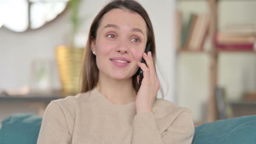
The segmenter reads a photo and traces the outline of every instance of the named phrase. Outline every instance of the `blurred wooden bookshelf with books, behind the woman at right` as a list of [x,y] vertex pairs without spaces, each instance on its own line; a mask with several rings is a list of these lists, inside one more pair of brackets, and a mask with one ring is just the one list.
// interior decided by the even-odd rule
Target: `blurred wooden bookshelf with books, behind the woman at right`
[[[197,3],[204,1],[204,9],[208,13],[191,12],[187,23],[183,22],[183,11],[176,10],[175,29],[176,29],[176,57],[184,54],[186,56],[203,54],[209,58],[209,95],[207,96],[207,118],[205,121],[195,121],[195,125],[212,122],[220,119],[220,111],[216,100],[216,88],[218,87],[218,65],[219,55],[221,54],[256,54],[256,23],[230,24],[228,29],[220,31],[219,22],[219,3],[220,1],[253,1],[253,0],[177,0],[177,5],[181,2]],[[202,7],[202,4],[200,5]],[[193,5],[190,7],[193,8]],[[236,10],[236,9],[235,9]],[[247,26],[247,27],[246,27]],[[241,29],[240,29],[241,28]],[[248,29],[247,29],[248,28]],[[239,29],[236,31],[236,29]],[[251,31],[250,31],[251,30]],[[250,31],[250,33],[247,33]],[[253,32],[252,32],[253,31]],[[238,43],[240,42],[240,43]],[[207,47],[207,49],[206,49]],[[229,102],[236,111],[238,106],[245,106],[249,102],[238,100]],[[256,101],[249,103],[256,108]],[[245,106],[246,107],[246,106]],[[251,108],[252,108],[251,107]],[[253,112],[256,112],[254,109]],[[255,114],[255,113],[254,113]],[[233,115],[238,116],[238,115]]]

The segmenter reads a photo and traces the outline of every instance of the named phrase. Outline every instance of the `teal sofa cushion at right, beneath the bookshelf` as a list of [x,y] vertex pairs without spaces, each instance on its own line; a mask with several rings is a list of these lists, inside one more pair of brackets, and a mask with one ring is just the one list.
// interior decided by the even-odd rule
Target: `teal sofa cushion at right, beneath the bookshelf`
[[256,115],[218,120],[195,128],[193,144],[255,144]]

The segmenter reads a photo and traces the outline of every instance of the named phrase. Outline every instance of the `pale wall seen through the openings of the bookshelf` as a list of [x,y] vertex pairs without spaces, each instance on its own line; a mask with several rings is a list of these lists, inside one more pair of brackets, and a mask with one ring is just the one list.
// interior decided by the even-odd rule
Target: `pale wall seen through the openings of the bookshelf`
[[[255,7],[255,0],[220,0],[220,31],[230,23],[256,22]],[[207,1],[203,0],[181,0],[177,8],[184,14],[184,23],[187,23],[190,13],[206,13],[209,10]],[[206,53],[187,53],[178,56],[177,62],[177,104],[190,108],[194,121],[202,121],[206,117],[206,103],[210,95],[209,57]],[[256,90],[255,54],[222,53],[218,63],[217,82],[226,88],[230,101],[240,99],[243,92]]]

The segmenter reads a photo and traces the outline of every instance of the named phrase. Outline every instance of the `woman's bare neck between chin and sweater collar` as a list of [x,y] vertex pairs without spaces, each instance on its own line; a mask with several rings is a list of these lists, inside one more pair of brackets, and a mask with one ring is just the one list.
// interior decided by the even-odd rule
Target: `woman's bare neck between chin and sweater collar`
[[132,78],[118,80],[101,72],[99,72],[97,89],[109,101],[116,105],[125,105],[135,101],[137,95],[132,86]]

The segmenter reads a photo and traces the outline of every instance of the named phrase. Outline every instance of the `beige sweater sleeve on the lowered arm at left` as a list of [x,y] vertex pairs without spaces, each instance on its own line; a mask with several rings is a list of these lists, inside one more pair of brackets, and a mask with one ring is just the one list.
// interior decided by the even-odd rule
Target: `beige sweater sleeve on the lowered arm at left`
[[71,141],[65,115],[52,101],[44,112],[37,144],[71,144]]

